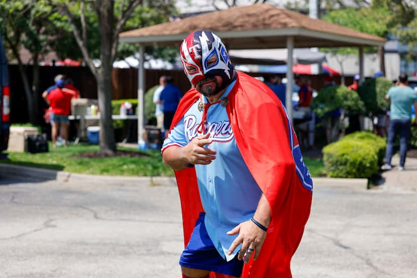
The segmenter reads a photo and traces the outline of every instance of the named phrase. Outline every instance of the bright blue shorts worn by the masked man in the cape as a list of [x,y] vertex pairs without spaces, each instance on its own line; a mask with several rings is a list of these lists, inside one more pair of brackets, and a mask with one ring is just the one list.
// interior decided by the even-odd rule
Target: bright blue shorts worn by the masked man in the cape
[[231,261],[227,261],[219,254],[205,229],[204,215],[204,212],[200,212],[190,241],[181,254],[179,264],[184,267],[210,270],[240,277],[243,269],[243,260],[238,260],[238,255],[236,254]]

